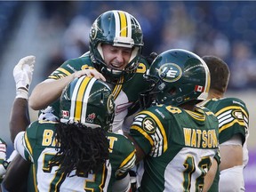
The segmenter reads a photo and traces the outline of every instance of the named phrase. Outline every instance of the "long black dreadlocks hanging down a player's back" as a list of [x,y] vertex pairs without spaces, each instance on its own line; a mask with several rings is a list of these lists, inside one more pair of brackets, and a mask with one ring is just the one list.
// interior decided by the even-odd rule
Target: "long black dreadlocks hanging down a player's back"
[[75,175],[96,173],[108,159],[109,142],[100,127],[92,129],[81,123],[60,123],[56,126],[55,139],[59,151],[52,157],[50,167],[60,165],[58,172],[67,176],[73,170],[76,170]]

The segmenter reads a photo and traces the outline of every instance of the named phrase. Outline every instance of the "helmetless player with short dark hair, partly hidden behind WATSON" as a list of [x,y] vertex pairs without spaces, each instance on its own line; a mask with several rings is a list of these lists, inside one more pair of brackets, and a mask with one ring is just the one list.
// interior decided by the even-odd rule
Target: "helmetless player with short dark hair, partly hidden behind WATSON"
[[227,63],[212,55],[204,56],[203,60],[211,72],[211,86],[208,100],[201,105],[209,108],[219,119],[221,156],[220,172],[216,174],[210,191],[244,191],[249,113],[243,100],[224,97],[230,76]]

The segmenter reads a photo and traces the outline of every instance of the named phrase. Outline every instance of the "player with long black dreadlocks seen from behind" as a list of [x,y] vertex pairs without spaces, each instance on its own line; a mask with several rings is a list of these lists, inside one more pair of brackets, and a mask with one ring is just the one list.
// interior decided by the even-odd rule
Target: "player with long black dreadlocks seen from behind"
[[[28,64],[23,65],[21,70]],[[39,120],[22,132],[14,122],[26,121],[22,114],[28,113],[27,107],[28,100],[16,97],[11,130],[17,134],[14,148],[33,164],[35,191],[131,188],[127,170],[135,164],[135,148],[123,135],[108,132],[115,103],[107,84],[94,77],[74,79],[60,97],[60,122]],[[12,161],[4,177],[8,190],[16,185],[11,177],[16,163]]]

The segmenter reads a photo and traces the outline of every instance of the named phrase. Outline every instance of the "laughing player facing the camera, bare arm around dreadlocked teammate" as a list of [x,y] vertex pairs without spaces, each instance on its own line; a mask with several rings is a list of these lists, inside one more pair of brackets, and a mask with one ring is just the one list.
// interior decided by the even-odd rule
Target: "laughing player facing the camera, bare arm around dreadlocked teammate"
[[65,61],[48,79],[37,84],[28,100],[29,106],[35,110],[45,108],[39,119],[59,119],[59,101],[52,102],[58,100],[62,89],[79,72],[106,80],[116,103],[113,132],[129,132],[132,121],[127,124],[124,120],[139,109],[140,105],[136,105],[139,93],[147,89],[143,75],[148,61],[140,57],[142,47],[140,23],[130,13],[117,10],[102,13],[92,24],[90,51]]

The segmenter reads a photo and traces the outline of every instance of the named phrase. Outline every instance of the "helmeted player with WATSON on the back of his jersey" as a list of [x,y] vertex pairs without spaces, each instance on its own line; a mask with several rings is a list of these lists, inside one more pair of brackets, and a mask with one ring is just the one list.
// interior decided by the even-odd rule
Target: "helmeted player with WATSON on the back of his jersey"
[[[159,54],[147,73],[156,106],[138,113],[128,138],[144,172],[139,191],[202,191],[213,161],[220,163],[218,119],[196,104],[207,98],[209,70],[199,56],[173,49]],[[146,94],[146,95],[147,95]],[[204,189],[205,191],[205,189]]]

